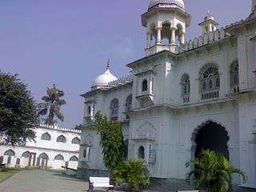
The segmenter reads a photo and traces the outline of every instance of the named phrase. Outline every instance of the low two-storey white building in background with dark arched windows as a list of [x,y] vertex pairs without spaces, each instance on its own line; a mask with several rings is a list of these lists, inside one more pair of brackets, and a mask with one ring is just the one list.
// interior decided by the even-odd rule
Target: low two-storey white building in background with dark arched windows
[[25,146],[0,146],[0,163],[7,166],[78,167],[81,130],[40,125],[34,128],[36,142]]

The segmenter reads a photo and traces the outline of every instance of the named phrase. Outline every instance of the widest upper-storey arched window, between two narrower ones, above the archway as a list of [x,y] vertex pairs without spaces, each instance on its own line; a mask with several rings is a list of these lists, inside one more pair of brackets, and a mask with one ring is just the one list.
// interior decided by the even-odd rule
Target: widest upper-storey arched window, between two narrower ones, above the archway
[[218,68],[209,66],[206,70],[201,71],[201,99],[218,98],[218,90],[220,86]]

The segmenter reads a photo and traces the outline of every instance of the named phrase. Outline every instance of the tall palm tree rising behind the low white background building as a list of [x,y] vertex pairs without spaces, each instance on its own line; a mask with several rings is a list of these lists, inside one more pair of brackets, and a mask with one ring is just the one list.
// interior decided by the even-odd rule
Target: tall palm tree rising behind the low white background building
[[48,116],[45,119],[45,123],[48,125],[54,125],[54,116],[56,116],[62,122],[64,121],[64,116],[61,113],[61,106],[66,104],[66,101],[61,99],[64,96],[63,90],[58,90],[55,84],[53,88],[47,87],[47,96],[43,96],[41,102],[38,104],[38,115],[46,115],[48,112]]

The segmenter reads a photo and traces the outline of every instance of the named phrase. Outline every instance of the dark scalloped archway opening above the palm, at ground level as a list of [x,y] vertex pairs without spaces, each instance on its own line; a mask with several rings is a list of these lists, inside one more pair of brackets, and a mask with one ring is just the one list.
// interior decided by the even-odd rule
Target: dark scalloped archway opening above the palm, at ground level
[[214,150],[216,153],[224,154],[225,158],[229,160],[228,140],[228,134],[223,126],[216,122],[207,122],[196,134],[195,142],[197,146],[194,157],[198,157],[203,149]]

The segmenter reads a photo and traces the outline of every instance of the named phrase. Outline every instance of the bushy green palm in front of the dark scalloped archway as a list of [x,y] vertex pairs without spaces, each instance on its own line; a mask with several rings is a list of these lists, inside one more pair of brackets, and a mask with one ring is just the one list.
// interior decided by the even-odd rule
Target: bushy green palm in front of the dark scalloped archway
[[194,165],[195,169],[187,175],[187,179],[195,182],[197,188],[205,188],[208,192],[231,192],[231,174],[241,174],[246,181],[245,174],[230,165],[223,154],[202,150],[198,158],[186,163],[186,167]]

